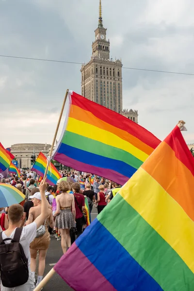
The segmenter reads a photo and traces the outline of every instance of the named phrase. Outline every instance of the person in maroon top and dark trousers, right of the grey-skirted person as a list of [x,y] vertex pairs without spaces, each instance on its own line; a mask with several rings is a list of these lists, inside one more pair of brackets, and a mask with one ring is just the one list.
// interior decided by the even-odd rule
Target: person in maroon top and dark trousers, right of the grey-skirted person
[[81,188],[79,183],[73,183],[72,189],[75,197],[76,228],[79,237],[82,233],[82,226],[86,223],[83,216],[83,211],[85,210],[85,198],[83,194],[80,193]]

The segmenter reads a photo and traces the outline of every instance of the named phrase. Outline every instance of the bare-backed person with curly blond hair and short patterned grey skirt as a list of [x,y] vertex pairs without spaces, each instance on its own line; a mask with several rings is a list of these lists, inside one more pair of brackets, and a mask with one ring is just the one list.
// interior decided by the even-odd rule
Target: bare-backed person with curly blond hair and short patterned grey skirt
[[61,246],[65,254],[71,246],[69,231],[71,227],[75,227],[76,210],[74,196],[67,193],[70,190],[69,184],[66,181],[59,182],[58,190],[61,194],[56,196],[55,226],[60,230]]

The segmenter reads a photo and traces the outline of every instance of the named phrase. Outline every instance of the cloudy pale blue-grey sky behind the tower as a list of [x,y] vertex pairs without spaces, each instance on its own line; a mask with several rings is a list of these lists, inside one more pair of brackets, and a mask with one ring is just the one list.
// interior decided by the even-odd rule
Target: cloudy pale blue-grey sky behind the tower
[[[0,0],[0,55],[87,62],[99,0]],[[102,0],[111,56],[124,67],[194,74],[193,0]],[[81,65],[0,57],[0,141],[51,143]],[[124,108],[163,139],[178,120],[194,142],[194,76],[123,69]]]

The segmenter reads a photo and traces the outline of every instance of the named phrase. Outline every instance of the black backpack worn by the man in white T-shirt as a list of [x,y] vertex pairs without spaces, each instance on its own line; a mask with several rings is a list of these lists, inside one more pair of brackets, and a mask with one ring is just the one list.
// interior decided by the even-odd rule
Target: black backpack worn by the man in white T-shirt
[[[0,233],[0,278],[7,288],[23,285],[29,278],[28,259],[19,243],[21,233],[22,228],[17,227],[14,238],[4,240]],[[5,243],[8,240],[11,242]]]

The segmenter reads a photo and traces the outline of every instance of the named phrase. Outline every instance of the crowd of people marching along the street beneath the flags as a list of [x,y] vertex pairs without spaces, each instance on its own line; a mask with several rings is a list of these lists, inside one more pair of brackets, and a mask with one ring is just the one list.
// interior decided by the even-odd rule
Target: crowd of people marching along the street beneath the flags
[[[72,182],[60,180],[50,186],[45,180],[31,171],[22,171],[21,177],[10,174],[1,179],[1,183],[11,184],[25,195],[25,201],[9,208],[0,208],[0,230],[2,240],[13,239],[16,228],[21,228],[19,242],[28,261],[28,280],[19,284],[20,289],[9,289],[9,284],[1,275],[1,290],[33,290],[44,275],[45,260],[50,244],[50,236],[61,241],[63,253],[87,227],[85,198],[89,212],[93,207],[98,214],[106,207],[120,189],[120,185],[99,178],[90,173],[60,171],[63,177],[72,178]],[[4,241],[6,244],[11,240]],[[35,281],[36,257],[38,254],[38,276]],[[1,259],[0,259],[1,263]],[[14,283],[13,283],[14,284]],[[22,285],[22,286],[20,286]],[[17,288],[18,285],[14,286]]]

